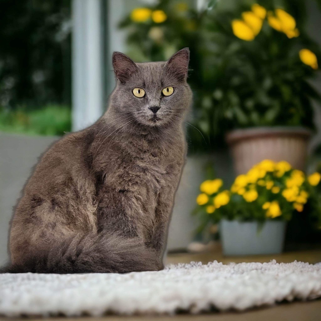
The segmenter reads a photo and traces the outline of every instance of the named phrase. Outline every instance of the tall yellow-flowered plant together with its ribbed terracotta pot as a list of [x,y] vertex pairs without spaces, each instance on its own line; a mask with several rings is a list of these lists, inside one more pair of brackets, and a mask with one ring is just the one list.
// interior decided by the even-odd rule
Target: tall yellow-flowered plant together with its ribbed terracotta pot
[[[317,75],[319,47],[289,13],[299,4],[260,3],[221,2],[204,18],[216,32],[204,32],[211,59],[203,73],[214,88],[213,109],[231,130],[226,141],[237,174],[266,158],[305,169],[314,129],[311,99],[320,100],[308,83]],[[215,45],[207,46],[209,39]]]

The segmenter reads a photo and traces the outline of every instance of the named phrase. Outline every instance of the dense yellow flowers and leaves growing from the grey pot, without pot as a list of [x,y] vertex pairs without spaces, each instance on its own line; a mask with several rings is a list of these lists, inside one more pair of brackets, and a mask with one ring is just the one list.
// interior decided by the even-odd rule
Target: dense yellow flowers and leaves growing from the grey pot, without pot
[[321,228],[320,178],[318,172],[307,177],[286,161],[263,160],[247,174],[236,177],[230,190],[223,189],[221,179],[206,180],[196,198],[195,213],[202,222],[200,231],[223,218],[261,223],[289,221],[293,213],[303,212],[307,203],[309,211],[315,209],[313,215]]

